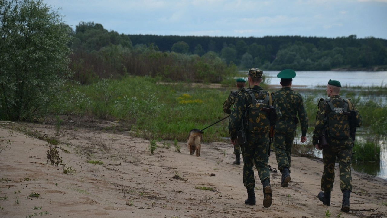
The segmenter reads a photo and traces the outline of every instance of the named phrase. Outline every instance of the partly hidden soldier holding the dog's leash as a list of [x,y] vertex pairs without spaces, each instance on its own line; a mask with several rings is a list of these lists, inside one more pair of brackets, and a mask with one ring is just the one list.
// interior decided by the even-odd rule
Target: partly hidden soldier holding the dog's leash
[[[245,86],[246,86],[245,79],[243,78],[236,79],[236,88],[238,88],[238,90],[236,90],[235,92],[231,91],[230,95],[223,103],[223,111],[226,114],[231,114],[231,106],[233,106],[235,102],[235,97],[240,92],[245,91]],[[240,145],[238,144],[234,145],[234,154],[235,154],[235,161],[233,162],[233,164],[237,164],[237,165],[241,164],[240,154],[242,154],[242,152],[241,152]]]

